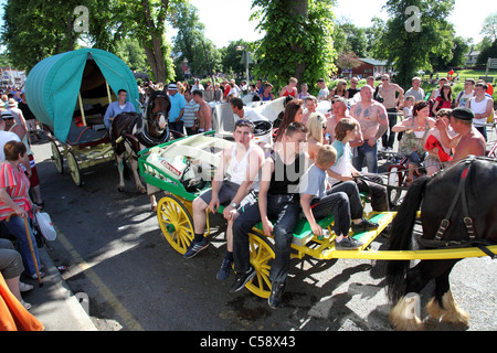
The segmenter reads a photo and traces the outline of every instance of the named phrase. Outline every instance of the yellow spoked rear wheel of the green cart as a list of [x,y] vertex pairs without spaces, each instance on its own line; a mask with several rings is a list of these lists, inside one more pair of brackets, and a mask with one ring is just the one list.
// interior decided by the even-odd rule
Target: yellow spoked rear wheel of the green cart
[[193,220],[179,199],[168,195],[157,204],[157,220],[166,240],[181,255],[193,240]]

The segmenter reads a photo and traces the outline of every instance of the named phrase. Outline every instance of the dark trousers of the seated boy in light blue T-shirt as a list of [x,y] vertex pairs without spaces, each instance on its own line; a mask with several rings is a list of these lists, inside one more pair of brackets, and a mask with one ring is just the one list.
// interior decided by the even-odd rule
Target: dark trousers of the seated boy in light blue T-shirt
[[321,199],[310,204],[314,217],[318,221],[334,214],[334,231],[338,235],[349,234],[350,220],[362,218],[362,203],[356,182],[346,181],[327,190]]

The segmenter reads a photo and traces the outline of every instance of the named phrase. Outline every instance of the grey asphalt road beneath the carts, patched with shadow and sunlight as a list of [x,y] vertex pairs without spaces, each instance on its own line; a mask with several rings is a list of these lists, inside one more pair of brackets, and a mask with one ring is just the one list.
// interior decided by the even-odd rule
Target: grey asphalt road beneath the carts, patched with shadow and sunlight
[[[125,192],[117,191],[114,163],[84,171],[84,184],[76,186],[67,172],[57,173],[46,140],[33,151],[45,211],[59,231],[49,255],[67,266],[63,277],[73,292],[88,296],[102,331],[392,330],[382,261],[294,259],[284,306],[272,310],[246,289],[230,295],[233,275],[215,279],[223,234],[183,259],[162,236],[148,196],[137,194],[130,179]],[[472,317],[468,330],[497,330],[496,274],[489,258],[464,259],[452,271],[453,295]],[[432,289],[422,293],[423,303]],[[430,321],[429,328],[462,330]]]

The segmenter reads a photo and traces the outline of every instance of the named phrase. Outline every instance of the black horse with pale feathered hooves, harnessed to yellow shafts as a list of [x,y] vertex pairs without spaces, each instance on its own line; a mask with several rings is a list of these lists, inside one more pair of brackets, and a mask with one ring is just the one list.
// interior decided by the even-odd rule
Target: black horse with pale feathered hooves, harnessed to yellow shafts
[[[497,243],[496,160],[469,157],[435,176],[422,176],[408,190],[404,202],[392,223],[391,250],[408,250],[413,244],[412,231],[421,205],[423,248],[478,246],[494,256],[486,246]],[[482,253],[482,254],[484,254]],[[387,263],[387,287],[395,304],[390,320],[398,330],[424,330],[412,312],[413,300],[430,280],[435,290],[426,310],[430,317],[467,327],[469,317],[458,308],[451,293],[448,276],[459,259],[422,260],[409,268],[410,261]]]

